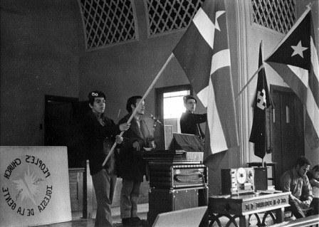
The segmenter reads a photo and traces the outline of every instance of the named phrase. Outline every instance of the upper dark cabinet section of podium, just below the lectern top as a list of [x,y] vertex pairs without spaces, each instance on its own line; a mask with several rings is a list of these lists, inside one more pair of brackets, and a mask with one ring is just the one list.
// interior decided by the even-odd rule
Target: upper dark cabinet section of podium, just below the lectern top
[[204,164],[149,164],[150,187],[177,189],[206,186],[207,167]]

